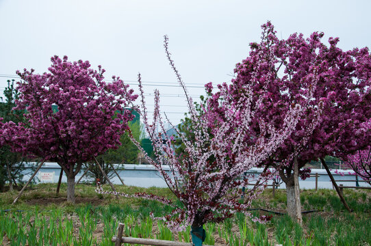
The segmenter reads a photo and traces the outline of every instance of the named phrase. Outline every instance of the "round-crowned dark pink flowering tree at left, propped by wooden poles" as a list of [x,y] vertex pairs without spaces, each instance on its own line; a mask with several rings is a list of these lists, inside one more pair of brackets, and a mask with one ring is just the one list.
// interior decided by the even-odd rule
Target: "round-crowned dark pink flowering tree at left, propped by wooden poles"
[[67,200],[75,202],[75,176],[81,165],[120,145],[138,95],[119,77],[106,83],[105,70],[88,61],[51,57],[49,72],[17,71],[20,92],[14,110],[25,111],[18,124],[1,124],[0,142],[30,158],[55,161],[67,176]]

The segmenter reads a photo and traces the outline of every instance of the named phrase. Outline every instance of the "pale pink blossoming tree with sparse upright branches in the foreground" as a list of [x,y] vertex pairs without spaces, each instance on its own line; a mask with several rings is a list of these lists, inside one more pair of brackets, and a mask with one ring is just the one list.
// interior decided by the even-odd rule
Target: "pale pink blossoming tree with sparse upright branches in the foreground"
[[[151,194],[122,195],[144,197],[174,207],[171,215],[159,219],[164,220],[168,228],[173,231],[184,230],[190,224],[194,245],[202,245],[205,223],[223,221],[236,212],[246,212],[246,208],[261,191],[261,187],[249,190],[245,194],[249,202],[240,204],[238,202],[238,198],[242,195],[240,188],[247,184],[247,180],[242,179],[244,172],[262,163],[281,146],[285,138],[294,130],[302,109],[298,105],[292,105],[286,113],[282,128],[279,129],[274,129],[269,124],[262,122],[261,129],[264,129],[270,137],[258,136],[253,145],[246,145],[245,136],[253,123],[251,119],[256,108],[255,105],[252,105],[252,91],[245,89],[246,93],[241,94],[240,100],[233,104],[220,101],[219,107],[225,109],[224,116],[227,120],[219,124],[218,113],[214,113],[212,105],[201,105],[201,112],[196,111],[194,102],[188,95],[179,72],[170,59],[167,38],[165,39],[165,49],[170,66],[175,71],[188,100],[192,124],[190,131],[194,137],[187,139],[175,128],[184,143],[184,154],[176,154],[174,139],[163,134],[165,132],[162,123],[164,120],[159,111],[159,92],[157,90],[155,91],[153,122],[149,122],[140,83],[141,114],[155,152],[155,159],[151,159],[149,156],[146,156],[146,159],[164,177],[168,188],[181,202],[181,205],[177,206],[172,200]],[[140,82],[140,76],[138,80]],[[220,92],[223,97],[229,96],[224,93],[224,91]],[[157,126],[162,129],[162,133],[156,132]],[[140,148],[138,141],[132,140]],[[145,154],[144,151],[143,153]],[[164,165],[170,167],[170,173],[166,172]],[[257,180],[266,180],[267,178],[269,177],[256,177]],[[110,193],[103,191],[101,187],[97,191]]]

